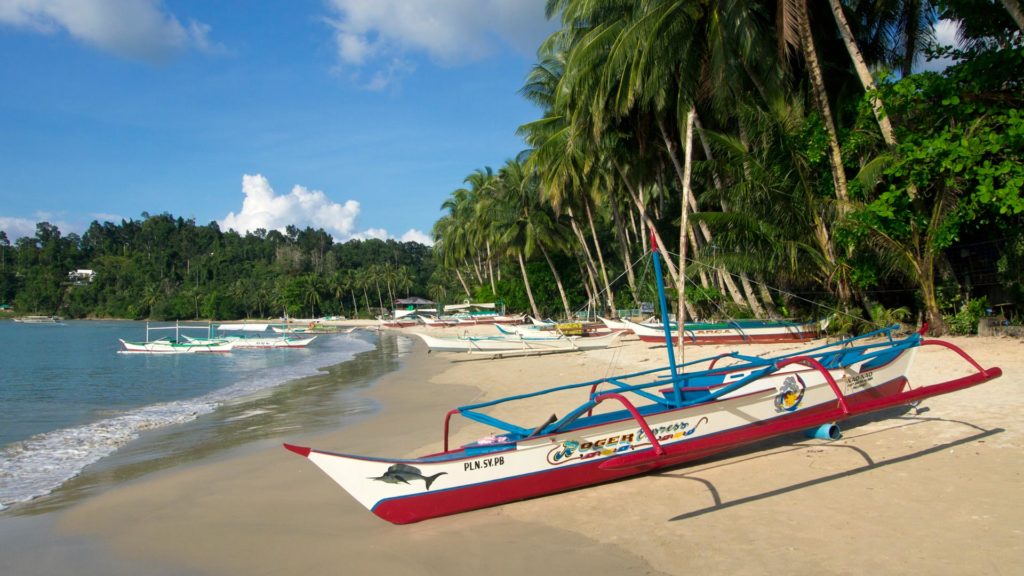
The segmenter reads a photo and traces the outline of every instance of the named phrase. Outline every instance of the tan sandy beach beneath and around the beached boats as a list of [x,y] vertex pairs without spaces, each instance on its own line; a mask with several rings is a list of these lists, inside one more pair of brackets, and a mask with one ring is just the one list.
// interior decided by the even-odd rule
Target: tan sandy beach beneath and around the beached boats
[[[136,479],[43,518],[15,519],[30,528],[0,547],[25,546],[17,559],[0,559],[0,572],[1020,574],[1024,347],[998,337],[946,339],[1005,375],[928,399],[919,411],[846,422],[838,442],[787,436],[684,467],[409,526],[378,519],[311,463],[265,443]],[[687,359],[734,347],[691,347]],[[455,406],[664,363],[664,346],[635,339],[587,354],[471,361],[427,355],[417,342],[398,372],[367,392],[379,414],[281,441],[415,456],[440,449],[443,417]],[[968,372],[953,353],[925,346],[910,381]],[[527,418],[540,423],[559,407],[536,410]],[[460,425],[455,440],[487,431]]]

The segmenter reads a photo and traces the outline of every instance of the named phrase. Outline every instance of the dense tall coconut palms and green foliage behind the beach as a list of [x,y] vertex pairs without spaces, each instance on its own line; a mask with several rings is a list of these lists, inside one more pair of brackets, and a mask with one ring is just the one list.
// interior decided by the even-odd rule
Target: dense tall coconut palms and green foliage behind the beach
[[[632,308],[650,300],[634,263],[654,242],[690,318],[837,313],[857,327],[913,311],[941,332],[944,290],[1020,298],[1016,2],[547,9],[561,27],[522,88],[541,117],[519,127],[526,151],[442,206],[436,289],[538,315]],[[940,17],[961,24],[963,49],[934,44]],[[926,57],[953,64],[913,73]],[[951,265],[972,249],[987,285]]]

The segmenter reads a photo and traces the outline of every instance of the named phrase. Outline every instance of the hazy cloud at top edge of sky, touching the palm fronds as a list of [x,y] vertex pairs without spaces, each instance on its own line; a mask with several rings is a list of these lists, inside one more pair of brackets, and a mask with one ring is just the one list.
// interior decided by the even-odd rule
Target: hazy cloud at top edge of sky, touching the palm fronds
[[[544,0],[329,0],[342,66],[404,61],[423,51],[442,65],[475,61],[501,45],[532,54],[555,24],[544,17]],[[408,72],[400,68],[398,71]],[[389,74],[374,76],[380,89]]]

